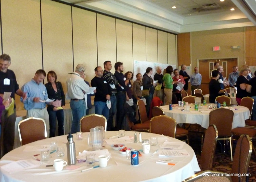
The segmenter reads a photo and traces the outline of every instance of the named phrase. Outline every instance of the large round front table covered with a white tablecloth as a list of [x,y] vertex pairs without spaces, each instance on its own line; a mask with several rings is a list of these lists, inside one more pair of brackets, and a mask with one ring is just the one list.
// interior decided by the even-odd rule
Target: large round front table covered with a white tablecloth
[[[74,142],[76,143],[76,155],[83,150],[88,150],[90,147],[87,144],[87,133],[83,133],[83,140],[78,141],[76,135],[74,135]],[[105,137],[118,135],[118,131],[107,131]],[[134,136],[134,132],[125,131],[126,136]],[[138,133],[137,133],[138,136]],[[126,159],[124,154],[121,154],[119,151],[113,150],[110,145],[103,144],[105,148],[108,149],[111,153],[110,160],[108,161],[107,167],[105,168],[95,168],[89,171],[81,172],[81,170],[87,169],[85,162],[77,163],[76,165],[80,166],[78,169],[67,170],[66,166],[63,168],[63,171],[56,172],[54,167],[46,167],[48,164],[53,164],[53,160],[57,157],[55,153],[50,154],[51,158],[47,163],[42,163],[39,167],[33,169],[23,170],[21,172],[8,173],[0,168],[0,181],[1,182],[16,182],[16,181],[28,181],[28,182],[40,182],[40,181],[61,181],[61,182],[70,182],[70,181],[177,181],[180,182],[192,175],[195,172],[200,171],[199,165],[193,149],[186,143],[183,146],[183,149],[186,149],[190,156],[182,157],[164,157],[164,159],[173,159],[172,163],[175,165],[164,165],[156,163],[157,160],[163,159],[163,157],[158,157],[158,154],[152,154],[160,148],[160,146],[165,141],[163,135],[158,135],[154,133],[144,133],[142,132],[143,139],[150,139],[151,136],[158,137],[158,145],[150,146],[150,152],[139,157],[138,165],[131,165],[130,160]],[[169,141],[178,142],[179,140],[175,138],[168,137]],[[51,141],[58,142],[58,146],[65,146],[65,156],[62,157],[64,161],[67,161],[67,151],[66,143],[67,135],[56,136],[54,138],[48,138],[33,142],[21,147],[18,147],[0,160],[0,165],[7,164],[12,161],[31,159],[34,154],[38,154],[38,151],[35,152],[24,152],[26,146],[33,145],[48,145]],[[180,141],[179,141],[180,142]],[[141,143],[126,143],[126,147],[136,148],[138,150],[142,149]],[[39,152],[40,153],[40,152]],[[53,155],[55,154],[55,155]],[[115,161],[118,163],[116,165]],[[95,162],[95,165],[99,165],[99,162]],[[68,166],[68,165],[67,165]]]

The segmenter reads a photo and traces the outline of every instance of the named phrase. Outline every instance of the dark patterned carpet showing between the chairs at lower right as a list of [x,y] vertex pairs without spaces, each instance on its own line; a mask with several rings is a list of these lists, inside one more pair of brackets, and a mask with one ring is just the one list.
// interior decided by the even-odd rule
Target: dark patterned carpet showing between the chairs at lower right
[[[190,131],[197,131],[198,125],[191,125],[189,128]],[[197,161],[200,164],[200,155],[201,155],[201,134],[197,132],[189,132],[189,143],[190,146],[194,149]],[[235,144],[233,147],[233,156],[235,153]],[[256,147],[256,141],[253,141],[254,147]],[[221,148],[223,148],[223,142],[222,147],[219,142],[217,142],[215,156],[213,159],[213,171],[220,171],[225,173],[231,173],[232,168],[232,161],[230,157],[230,147],[226,145],[226,154],[221,153]],[[249,164],[249,170],[248,173],[251,174],[249,177],[249,182],[256,182],[256,155],[254,152],[252,152],[250,164]]]

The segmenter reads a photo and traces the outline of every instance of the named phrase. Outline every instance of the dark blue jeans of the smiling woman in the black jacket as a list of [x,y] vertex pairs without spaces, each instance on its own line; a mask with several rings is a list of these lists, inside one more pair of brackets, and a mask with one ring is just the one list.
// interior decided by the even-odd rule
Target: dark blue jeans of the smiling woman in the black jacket
[[49,114],[49,124],[50,124],[50,137],[55,137],[56,130],[56,117],[58,120],[58,135],[64,135],[64,111],[63,109],[58,111],[53,111],[47,108]]

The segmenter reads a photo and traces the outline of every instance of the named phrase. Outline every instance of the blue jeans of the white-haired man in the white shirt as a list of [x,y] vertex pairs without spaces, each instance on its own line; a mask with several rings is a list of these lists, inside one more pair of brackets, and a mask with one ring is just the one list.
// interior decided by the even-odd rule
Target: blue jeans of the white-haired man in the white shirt
[[80,119],[85,116],[85,101],[84,100],[71,100],[70,101],[70,108],[72,110],[72,116],[73,116],[73,121],[71,125],[71,130],[70,132],[76,133],[80,131]]

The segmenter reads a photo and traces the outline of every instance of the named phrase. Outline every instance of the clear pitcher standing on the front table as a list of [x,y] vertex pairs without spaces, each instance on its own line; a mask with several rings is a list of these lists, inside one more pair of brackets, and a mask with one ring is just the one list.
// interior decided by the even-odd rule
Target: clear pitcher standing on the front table
[[[92,150],[102,150],[103,143],[103,129],[91,128],[88,134],[88,145],[92,146]],[[91,141],[89,141],[91,139]]]

